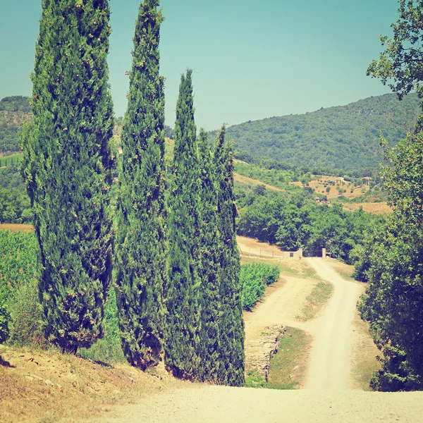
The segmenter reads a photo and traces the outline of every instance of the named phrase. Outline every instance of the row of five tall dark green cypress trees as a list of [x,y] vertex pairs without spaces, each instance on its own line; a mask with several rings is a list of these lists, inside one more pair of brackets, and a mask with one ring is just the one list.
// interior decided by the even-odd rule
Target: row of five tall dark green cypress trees
[[109,2],[42,0],[34,119],[22,142],[42,253],[45,332],[73,353],[103,336],[114,256],[128,361],[147,369],[164,350],[175,376],[241,386],[244,331],[231,147],[224,127],[214,154],[204,130],[197,140],[188,71],[180,82],[166,190],[158,6],[158,0],[143,0],[135,27],[116,230]]

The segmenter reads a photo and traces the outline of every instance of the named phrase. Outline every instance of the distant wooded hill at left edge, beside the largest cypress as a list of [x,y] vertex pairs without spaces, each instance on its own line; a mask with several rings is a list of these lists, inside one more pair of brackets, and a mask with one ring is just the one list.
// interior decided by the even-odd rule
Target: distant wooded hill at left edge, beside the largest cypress
[[31,116],[27,97],[5,97],[0,101],[0,154],[19,150],[19,131]]

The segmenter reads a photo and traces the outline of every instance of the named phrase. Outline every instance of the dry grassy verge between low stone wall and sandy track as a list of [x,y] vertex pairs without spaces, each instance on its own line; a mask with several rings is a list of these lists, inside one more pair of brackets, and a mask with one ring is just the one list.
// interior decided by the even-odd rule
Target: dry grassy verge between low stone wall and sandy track
[[245,386],[250,388],[297,389],[305,382],[312,338],[305,331],[288,328],[281,346],[271,360],[268,381],[264,376],[247,372]]

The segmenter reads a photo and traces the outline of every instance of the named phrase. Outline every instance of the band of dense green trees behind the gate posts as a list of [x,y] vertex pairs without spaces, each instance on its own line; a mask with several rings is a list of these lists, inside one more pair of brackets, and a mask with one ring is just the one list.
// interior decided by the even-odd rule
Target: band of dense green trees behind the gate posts
[[279,245],[283,250],[303,248],[306,255],[316,255],[326,247],[332,257],[346,263],[362,244],[364,233],[384,217],[366,214],[362,209],[345,212],[339,204],[318,204],[310,192],[272,193],[250,200],[239,192],[238,234]]

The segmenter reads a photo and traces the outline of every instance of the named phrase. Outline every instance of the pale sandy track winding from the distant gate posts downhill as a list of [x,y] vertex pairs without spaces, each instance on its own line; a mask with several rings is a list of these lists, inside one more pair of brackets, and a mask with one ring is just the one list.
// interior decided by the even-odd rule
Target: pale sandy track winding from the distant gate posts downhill
[[339,276],[324,259],[306,260],[322,279],[333,284],[324,314],[310,322],[314,345],[307,388],[347,389],[353,348],[350,339],[360,290],[356,283]]

